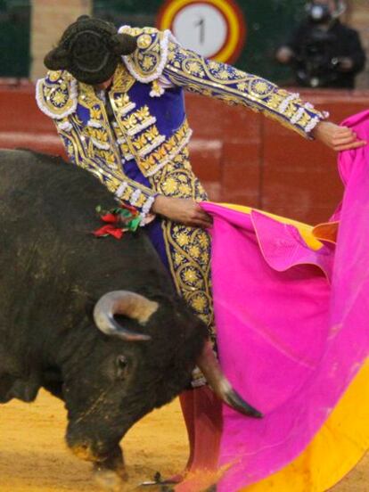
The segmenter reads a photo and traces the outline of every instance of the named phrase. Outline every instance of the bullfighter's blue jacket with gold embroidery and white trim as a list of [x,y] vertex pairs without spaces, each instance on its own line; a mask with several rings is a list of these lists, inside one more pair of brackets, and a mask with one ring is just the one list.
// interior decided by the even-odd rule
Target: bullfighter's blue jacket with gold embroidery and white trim
[[112,125],[94,87],[78,83],[67,71],[50,71],[37,82],[37,103],[53,118],[70,160],[143,215],[156,194],[155,180],[145,180],[151,186],[139,184],[127,176],[125,166],[135,160],[149,178],[184,150],[191,129],[183,89],[261,111],[306,136],[325,117],[301,102],[299,94],[184,49],[169,31],[119,30],[135,36],[138,47],[122,57],[107,94]]

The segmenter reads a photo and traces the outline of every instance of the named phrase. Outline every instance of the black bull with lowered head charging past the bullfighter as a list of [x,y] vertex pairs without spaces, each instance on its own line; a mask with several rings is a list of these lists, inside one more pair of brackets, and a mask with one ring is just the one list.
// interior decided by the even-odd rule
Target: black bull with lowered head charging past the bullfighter
[[189,384],[206,327],[143,231],[93,237],[116,206],[94,176],[27,151],[0,151],[0,176],[0,403],[49,390],[73,452],[123,475],[120,439]]

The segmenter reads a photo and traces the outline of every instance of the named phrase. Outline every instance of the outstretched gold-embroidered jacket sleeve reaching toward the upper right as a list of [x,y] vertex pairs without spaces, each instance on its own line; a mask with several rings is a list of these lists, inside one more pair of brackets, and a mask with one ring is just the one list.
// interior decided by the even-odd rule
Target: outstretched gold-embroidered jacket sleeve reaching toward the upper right
[[328,116],[316,111],[310,103],[302,102],[299,94],[291,94],[231,65],[208,60],[173,40],[168,44],[168,61],[162,74],[176,86],[262,112],[306,137]]

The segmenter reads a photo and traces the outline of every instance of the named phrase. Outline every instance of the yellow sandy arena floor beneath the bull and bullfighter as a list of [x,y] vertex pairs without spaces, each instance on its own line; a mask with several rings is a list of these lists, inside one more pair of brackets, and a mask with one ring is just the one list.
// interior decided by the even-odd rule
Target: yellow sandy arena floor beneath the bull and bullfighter
[[[63,440],[66,425],[62,403],[41,392],[31,405],[0,406],[0,492],[98,492],[90,465],[70,454]],[[139,422],[125,439],[130,480],[125,490],[141,488],[156,471],[181,471],[187,440],[177,401]],[[134,464],[137,463],[137,464]],[[283,492],[283,491],[275,491]],[[298,491],[297,491],[298,492]],[[334,492],[369,492],[369,456]]]

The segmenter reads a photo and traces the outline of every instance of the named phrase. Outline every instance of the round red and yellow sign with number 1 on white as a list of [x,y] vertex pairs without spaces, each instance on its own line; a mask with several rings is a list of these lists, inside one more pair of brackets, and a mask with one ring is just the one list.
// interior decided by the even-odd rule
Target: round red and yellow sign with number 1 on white
[[185,48],[217,61],[237,60],[246,38],[246,23],[234,0],[167,0],[157,19]]

